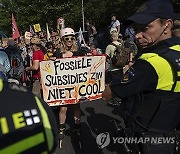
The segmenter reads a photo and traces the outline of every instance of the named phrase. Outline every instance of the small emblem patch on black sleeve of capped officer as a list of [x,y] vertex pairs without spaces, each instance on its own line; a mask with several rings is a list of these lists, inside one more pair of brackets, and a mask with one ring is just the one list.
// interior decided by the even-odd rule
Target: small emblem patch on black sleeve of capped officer
[[135,70],[133,67],[129,68],[129,70],[126,71],[126,73],[123,75],[121,79],[121,83],[128,83],[131,81],[135,76]]

